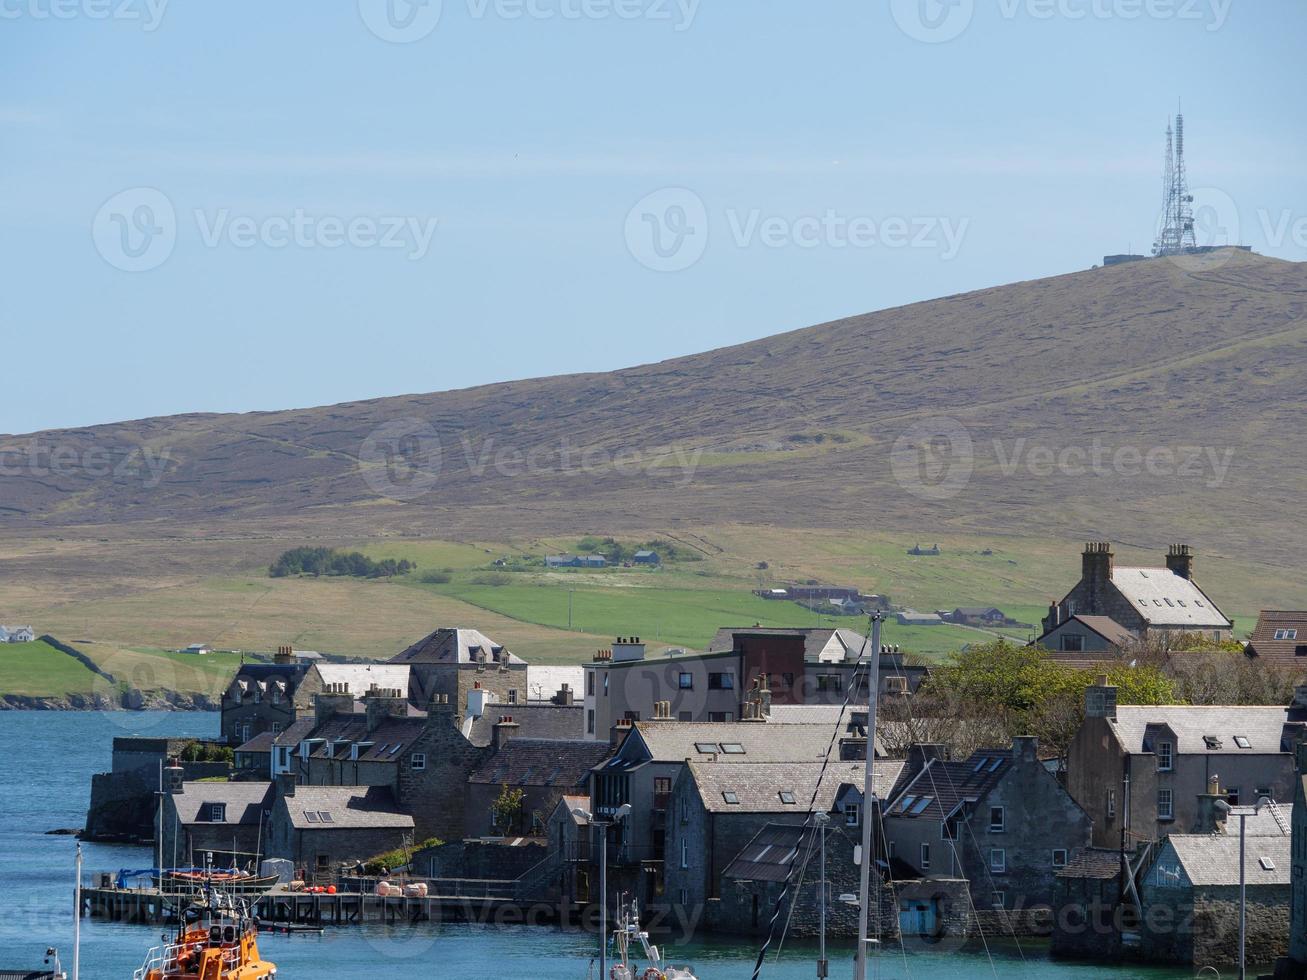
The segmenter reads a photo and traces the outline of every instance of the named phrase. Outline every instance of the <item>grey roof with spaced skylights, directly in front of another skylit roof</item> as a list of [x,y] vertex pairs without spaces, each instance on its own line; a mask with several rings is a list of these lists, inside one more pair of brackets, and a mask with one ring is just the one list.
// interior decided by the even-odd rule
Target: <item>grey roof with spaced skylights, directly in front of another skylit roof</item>
[[[877,762],[874,768],[876,794],[884,798],[894,787],[903,762]],[[813,808],[830,813],[842,787],[863,789],[865,770],[860,762],[833,762],[822,775],[821,762],[742,763],[714,766],[689,764],[689,777],[699,791],[699,798],[708,813],[792,813],[806,814],[817,793]],[[821,784],[818,785],[818,780]],[[791,793],[795,802],[787,804],[782,793]],[[735,800],[735,802],[729,802]]]

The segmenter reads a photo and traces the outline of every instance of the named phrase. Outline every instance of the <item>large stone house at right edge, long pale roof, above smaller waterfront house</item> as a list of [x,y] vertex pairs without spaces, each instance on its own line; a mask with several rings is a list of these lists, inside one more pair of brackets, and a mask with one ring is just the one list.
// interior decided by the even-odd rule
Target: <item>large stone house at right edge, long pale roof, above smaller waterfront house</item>
[[[1067,788],[1094,821],[1095,847],[1161,840],[1195,826],[1213,781],[1231,804],[1293,800],[1291,749],[1307,723],[1307,687],[1274,706],[1119,706],[1106,678],[1085,693]],[[1125,836],[1128,835],[1128,836]]]

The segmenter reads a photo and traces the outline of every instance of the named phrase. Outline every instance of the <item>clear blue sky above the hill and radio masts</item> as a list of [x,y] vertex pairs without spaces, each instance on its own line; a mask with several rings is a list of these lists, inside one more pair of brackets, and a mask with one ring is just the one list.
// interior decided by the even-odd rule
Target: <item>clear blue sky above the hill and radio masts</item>
[[1206,234],[1304,260],[1304,37],[1299,0],[0,0],[0,431],[1085,269],[1148,248],[1180,97]]

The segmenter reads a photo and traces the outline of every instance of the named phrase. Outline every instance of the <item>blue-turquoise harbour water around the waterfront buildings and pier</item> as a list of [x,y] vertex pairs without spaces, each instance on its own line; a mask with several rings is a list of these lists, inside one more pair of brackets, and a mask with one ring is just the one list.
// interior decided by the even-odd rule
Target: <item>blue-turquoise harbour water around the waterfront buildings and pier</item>
[[[213,736],[213,713],[0,712],[0,968],[39,966],[47,946],[71,951],[73,848],[71,838],[47,830],[80,827],[86,814],[90,774],[110,767],[115,736]],[[149,848],[88,844],[88,874],[145,868]],[[125,980],[159,929],[82,920],[84,980]],[[380,980],[386,977],[532,977],[586,980],[595,941],[580,932],[520,926],[418,925],[328,930],[322,936],[265,936],[260,947],[285,980]],[[678,945],[676,963],[691,964],[702,980],[745,980],[755,950],[738,942]],[[1189,971],[1070,966],[1052,963],[1043,947],[1026,943],[983,950],[885,953],[872,976],[885,980],[1179,980]],[[831,977],[852,975],[850,947],[833,946]],[[767,963],[767,980],[816,975],[812,946],[787,946]]]

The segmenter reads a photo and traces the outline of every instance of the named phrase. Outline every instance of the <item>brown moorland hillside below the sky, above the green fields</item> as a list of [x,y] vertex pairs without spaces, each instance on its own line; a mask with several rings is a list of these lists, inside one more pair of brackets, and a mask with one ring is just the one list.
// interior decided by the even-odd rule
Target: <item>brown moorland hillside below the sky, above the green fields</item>
[[[924,537],[1187,536],[1290,563],[1307,490],[1304,391],[1307,265],[1242,253],[1199,269],[1153,260],[610,374],[0,436],[0,528],[302,521],[460,537],[733,521]],[[904,469],[938,417],[961,422],[974,452],[970,481],[948,499],[911,493],[915,470]],[[438,464],[429,442],[400,440],[429,483],[414,487],[384,464],[387,425],[438,436]],[[1027,455],[1002,472],[1031,447],[1089,452],[1095,439],[1103,474],[1046,476],[1044,457]],[[41,460],[58,447],[77,461],[58,473],[30,466],[33,447]],[[1179,473],[1110,465],[1117,449],[1179,447],[1200,449]],[[89,451],[122,461],[142,448],[167,453],[157,485],[131,465],[112,476],[82,465],[98,459]],[[625,473],[609,465],[618,451],[630,453]],[[518,472],[514,452],[535,453],[533,472]],[[676,452],[702,452],[693,476]],[[507,466],[494,465],[497,453]],[[1223,480],[1213,459],[1229,460]]]

